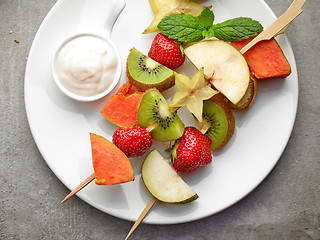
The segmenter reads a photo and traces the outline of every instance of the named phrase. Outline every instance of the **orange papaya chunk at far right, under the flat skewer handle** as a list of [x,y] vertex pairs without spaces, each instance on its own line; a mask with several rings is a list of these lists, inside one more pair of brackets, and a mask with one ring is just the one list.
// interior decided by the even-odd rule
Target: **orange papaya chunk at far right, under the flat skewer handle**
[[[241,50],[253,38],[231,44]],[[244,54],[244,57],[251,74],[257,79],[285,78],[291,73],[290,64],[274,38],[258,42]]]

